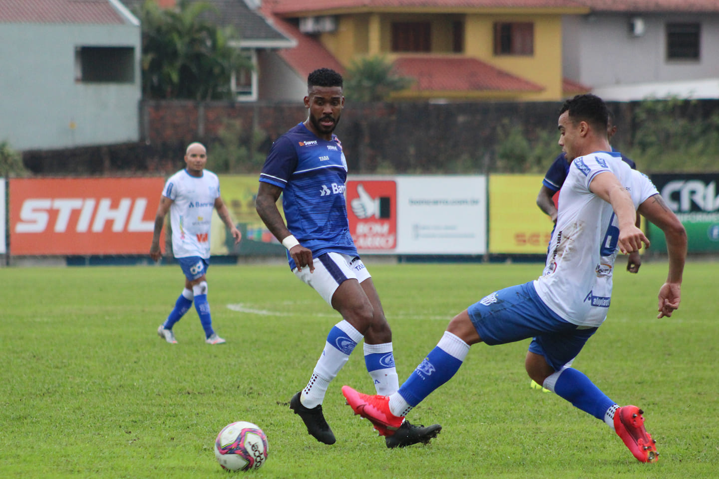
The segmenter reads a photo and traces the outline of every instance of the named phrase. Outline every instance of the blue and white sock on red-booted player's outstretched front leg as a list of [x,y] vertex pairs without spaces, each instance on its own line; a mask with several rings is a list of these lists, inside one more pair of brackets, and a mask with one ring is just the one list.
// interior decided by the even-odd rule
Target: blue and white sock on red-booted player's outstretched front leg
[[390,396],[390,411],[406,416],[414,406],[442,384],[449,381],[462,366],[470,345],[452,332],[445,331],[439,343],[411,373],[400,389]]

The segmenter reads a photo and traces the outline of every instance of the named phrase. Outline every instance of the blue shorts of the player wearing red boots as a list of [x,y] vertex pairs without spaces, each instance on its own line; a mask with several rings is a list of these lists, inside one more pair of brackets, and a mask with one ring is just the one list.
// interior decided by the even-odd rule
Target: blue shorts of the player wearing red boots
[[496,345],[533,338],[529,350],[543,355],[554,371],[572,361],[597,330],[563,320],[544,304],[532,282],[493,292],[467,312],[482,341]]

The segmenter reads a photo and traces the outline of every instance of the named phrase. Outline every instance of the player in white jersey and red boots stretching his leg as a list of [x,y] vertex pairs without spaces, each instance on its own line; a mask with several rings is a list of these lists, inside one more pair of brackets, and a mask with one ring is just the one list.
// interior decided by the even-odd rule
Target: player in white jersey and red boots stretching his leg
[[568,100],[559,115],[559,145],[573,159],[559,196],[557,228],[544,274],[536,281],[500,289],[455,316],[434,350],[397,393],[342,394],[356,414],[370,419],[380,434],[459,370],[470,345],[511,343],[532,338],[525,368],[530,378],[615,430],[634,457],[654,462],[659,454],[644,429],[644,411],[618,406],[587,376],[569,367],[605,320],[617,249],[649,246],[636,227],[636,208],[664,231],[669,252],[667,282],[659,289],[659,315],[679,307],[687,236],[682,223],[641,173],[610,152],[607,108],[593,95]]

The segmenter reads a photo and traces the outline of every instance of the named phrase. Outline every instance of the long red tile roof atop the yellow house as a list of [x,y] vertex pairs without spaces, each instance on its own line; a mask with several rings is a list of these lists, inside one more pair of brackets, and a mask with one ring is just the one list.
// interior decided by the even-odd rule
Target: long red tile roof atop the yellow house
[[581,8],[579,0],[263,0],[277,14],[362,9],[512,9]]

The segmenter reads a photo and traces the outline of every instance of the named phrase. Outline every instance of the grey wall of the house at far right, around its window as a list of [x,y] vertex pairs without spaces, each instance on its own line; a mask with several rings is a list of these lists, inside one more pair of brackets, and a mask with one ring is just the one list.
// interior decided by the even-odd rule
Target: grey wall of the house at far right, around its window
[[[644,19],[641,37],[629,33],[633,16]],[[668,61],[667,22],[700,22],[699,61]],[[591,87],[719,77],[717,14],[591,14],[562,19],[564,76]]]

